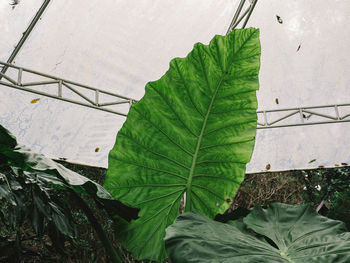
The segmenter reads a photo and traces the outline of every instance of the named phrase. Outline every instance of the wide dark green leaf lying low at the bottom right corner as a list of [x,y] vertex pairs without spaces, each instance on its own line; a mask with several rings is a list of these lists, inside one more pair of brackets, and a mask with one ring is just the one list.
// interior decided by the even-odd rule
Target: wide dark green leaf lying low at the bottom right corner
[[226,224],[185,213],[167,228],[166,247],[172,263],[348,263],[345,231],[308,205],[275,203]]

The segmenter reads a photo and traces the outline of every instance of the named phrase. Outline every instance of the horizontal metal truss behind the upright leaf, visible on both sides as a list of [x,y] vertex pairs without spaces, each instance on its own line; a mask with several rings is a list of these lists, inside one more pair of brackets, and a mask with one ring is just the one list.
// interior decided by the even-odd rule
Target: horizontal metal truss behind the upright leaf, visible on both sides
[[[7,86],[125,117],[127,112],[116,111],[110,107],[125,104],[131,106],[132,103],[136,102],[132,98],[0,61],[1,65],[6,65],[11,71],[6,74],[0,72],[0,76],[3,78],[3,80],[0,80],[0,86]],[[25,73],[29,73],[31,79],[40,78],[40,81],[26,82]],[[13,76],[16,76],[16,78]],[[44,91],[42,91],[43,88]],[[72,98],[72,94],[75,94],[75,99]],[[124,110],[127,111],[125,106]],[[257,111],[257,115],[257,129],[350,122],[350,103],[261,110]]]

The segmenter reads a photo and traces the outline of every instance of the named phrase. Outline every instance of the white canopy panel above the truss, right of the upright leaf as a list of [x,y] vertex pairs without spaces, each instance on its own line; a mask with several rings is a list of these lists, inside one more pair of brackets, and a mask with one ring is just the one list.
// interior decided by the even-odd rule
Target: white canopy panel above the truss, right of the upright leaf
[[349,16],[349,1],[258,2],[248,26],[261,31],[260,109],[350,102]]

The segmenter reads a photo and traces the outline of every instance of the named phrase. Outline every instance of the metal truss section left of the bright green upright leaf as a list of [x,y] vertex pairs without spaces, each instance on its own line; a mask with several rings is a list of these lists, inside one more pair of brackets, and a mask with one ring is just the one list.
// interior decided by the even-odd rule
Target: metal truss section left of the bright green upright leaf
[[[6,66],[8,69],[11,69],[11,71],[7,71],[6,73],[0,72],[0,77],[2,78],[2,80],[0,80],[0,86],[3,85],[125,117],[127,116],[127,112],[114,110],[111,109],[111,107],[121,106],[123,104],[128,104],[130,106],[133,102],[136,102],[136,100],[132,98],[119,94],[47,75],[31,69],[17,67],[5,62],[0,61],[0,66]],[[25,77],[39,79],[40,81],[26,82]],[[122,108],[125,111],[125,106]]]

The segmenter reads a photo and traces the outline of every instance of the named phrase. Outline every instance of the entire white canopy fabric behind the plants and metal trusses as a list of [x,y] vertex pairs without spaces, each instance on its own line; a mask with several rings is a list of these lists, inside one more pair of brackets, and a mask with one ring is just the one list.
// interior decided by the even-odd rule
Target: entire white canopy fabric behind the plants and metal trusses
[[[26,0],[12,9],[9,3],[0,2],[2,61],[42,4]],[[51,1],[14,63],[140,99],[145,84],[159,79],[172,58],[225,34],[238,3]],[[346,0],[258,1],[247,26],[261,30],[260,110],[350,102],[349,15]],[[52,158],[107,167],[124,117],[3,86],[0,93],[0,123],[20,143]],[[40,100],[31,104],[35,98]],[[268,163],[271,170],[350,163],[349,128],[342,123],[258,130],[248,172]]]

